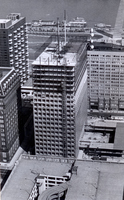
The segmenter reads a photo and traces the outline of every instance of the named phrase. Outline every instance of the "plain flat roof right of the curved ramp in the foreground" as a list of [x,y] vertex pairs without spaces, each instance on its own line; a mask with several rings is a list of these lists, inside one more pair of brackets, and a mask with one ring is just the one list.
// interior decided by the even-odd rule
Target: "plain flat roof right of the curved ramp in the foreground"
[[77,160],[65,200],[122,200],[124,163]]

